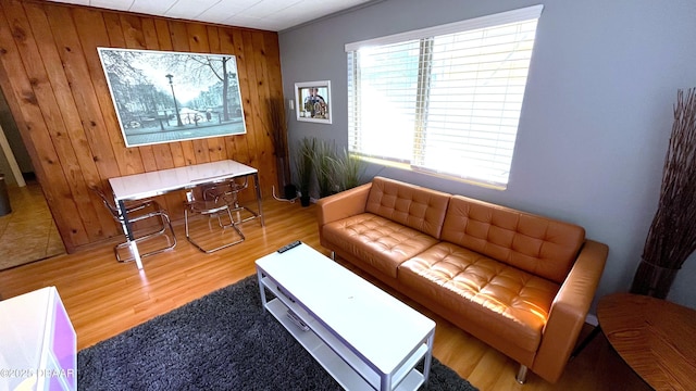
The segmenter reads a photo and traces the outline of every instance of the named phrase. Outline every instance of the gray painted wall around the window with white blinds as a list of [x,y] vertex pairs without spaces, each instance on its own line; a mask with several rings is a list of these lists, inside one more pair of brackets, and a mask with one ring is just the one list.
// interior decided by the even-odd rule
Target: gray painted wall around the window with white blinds
[[[302,137],[347,144],[347,42],[533,5],[537,1],[387,0],[279,35],[284,93],[332,83],[333,124],[294,119]],[[696,86],[693,0],[547,0],[538,23],[505,191],[371,166],[383,175],[580,224],[609,244],[597,295],[630,288],[657,206],[676,90]],[[696,256],[670,300],[696,307]]]

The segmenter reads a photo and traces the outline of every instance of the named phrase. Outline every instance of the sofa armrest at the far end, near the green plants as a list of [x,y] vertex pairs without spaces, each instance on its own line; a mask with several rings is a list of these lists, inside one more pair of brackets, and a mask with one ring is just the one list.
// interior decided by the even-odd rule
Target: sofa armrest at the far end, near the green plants
[[364,213],[372,182],[339,193],[324,197],[316,202],[319,230],[332,222]]

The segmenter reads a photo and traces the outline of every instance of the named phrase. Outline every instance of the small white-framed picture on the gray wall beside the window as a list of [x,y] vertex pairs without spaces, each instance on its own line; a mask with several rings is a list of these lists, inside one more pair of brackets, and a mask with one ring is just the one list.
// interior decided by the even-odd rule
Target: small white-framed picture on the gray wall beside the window
[[331,80],[296,83],[295,101],[297,121],[332,123]]

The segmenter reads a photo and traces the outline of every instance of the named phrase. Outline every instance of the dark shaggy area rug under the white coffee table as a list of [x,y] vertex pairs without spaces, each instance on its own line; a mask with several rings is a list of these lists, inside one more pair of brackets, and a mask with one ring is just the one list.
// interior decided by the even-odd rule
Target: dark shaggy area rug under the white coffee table
[[[268,312],[256,276],[77,354],[79,390],[340,390]],[[476,390],[433,358],[427,390]]]

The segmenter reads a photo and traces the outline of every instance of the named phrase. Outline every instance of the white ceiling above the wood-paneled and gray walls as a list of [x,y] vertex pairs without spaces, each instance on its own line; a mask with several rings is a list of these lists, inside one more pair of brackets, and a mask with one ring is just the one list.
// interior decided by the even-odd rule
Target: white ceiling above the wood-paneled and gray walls
[[49,0],[281,31],[372,0]]

